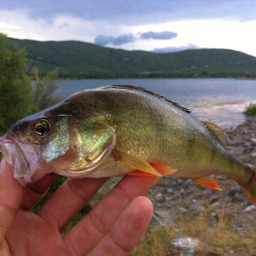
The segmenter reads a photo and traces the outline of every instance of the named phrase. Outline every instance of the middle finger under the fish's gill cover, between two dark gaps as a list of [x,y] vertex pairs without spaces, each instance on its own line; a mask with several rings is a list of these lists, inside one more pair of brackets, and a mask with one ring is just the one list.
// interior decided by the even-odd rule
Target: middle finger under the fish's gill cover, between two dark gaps
[[46,201],[38,214],[59,229],[87,204],[106,179],[67,179]]

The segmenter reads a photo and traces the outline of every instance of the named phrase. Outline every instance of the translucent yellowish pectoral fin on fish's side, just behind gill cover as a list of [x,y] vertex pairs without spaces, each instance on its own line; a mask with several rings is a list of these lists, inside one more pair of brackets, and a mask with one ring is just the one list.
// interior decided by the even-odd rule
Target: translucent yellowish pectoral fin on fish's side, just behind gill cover
[[146,161],[139,159],[137,156],[128,154],[126,152],[117,151],[117,150],[114,150],[112,152],[116,160],[120,161],[123,165],[133,170],[139,170],[155,176],[162,176],[162,174],[156,171],[154,167],[152,167]]

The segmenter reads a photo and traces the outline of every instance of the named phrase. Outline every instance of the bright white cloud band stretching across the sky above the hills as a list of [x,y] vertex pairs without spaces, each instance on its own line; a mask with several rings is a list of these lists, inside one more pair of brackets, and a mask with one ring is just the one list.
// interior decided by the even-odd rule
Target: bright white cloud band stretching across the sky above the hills
[[[69,15],[56,15],[47,21],[32,19],[24,10],[0,10],[0,31],[20,39],[81,40],[90,43],[97,35],[117,37],[131,33],[137,36],[137,40],[123,44],[122,48],[152,51],[155,48],[193,44],[201,48],[229,48],[256,56],[256,20],[192,19],[121,26],[110,20],[85,20]],[[142,32],[148,31],[175,31],[177,37],[170,40],[139,38]]]

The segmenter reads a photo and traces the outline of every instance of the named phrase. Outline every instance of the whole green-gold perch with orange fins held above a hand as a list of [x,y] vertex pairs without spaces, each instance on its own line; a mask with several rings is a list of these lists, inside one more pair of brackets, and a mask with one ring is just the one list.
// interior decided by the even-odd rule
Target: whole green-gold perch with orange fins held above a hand
[[212,175],[225,175],[256,205],[256,168],[230,154],[230,145],[216,124],[133,85],[82,90],[21,119],[0,138],[0,151],[24,186],[55,172],[187,177],[221,190]]

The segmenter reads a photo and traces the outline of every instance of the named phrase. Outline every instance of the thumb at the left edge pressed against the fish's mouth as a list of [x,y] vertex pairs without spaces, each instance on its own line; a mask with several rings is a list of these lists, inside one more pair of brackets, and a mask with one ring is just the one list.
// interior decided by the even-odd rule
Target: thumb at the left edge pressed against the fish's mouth
[[0,164],[0,241],[14,221],[22,201],[22,187],[3,159]]

